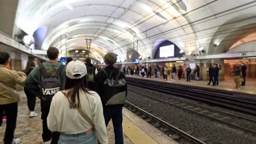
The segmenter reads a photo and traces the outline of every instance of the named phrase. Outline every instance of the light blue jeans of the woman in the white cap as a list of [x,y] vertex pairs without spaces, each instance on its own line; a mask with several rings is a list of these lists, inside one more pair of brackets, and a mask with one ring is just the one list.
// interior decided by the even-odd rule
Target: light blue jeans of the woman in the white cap
[[60,134],[58,144],[97,144],[95,131],[90,135],[86,135],[85,132],[81,134],[67,135],[64,133]]

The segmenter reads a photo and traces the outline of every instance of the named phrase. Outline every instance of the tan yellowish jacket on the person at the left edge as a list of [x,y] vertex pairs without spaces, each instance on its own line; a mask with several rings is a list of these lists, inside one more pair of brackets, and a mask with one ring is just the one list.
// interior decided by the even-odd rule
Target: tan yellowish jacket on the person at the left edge
[[[0,82],[5,86],[15,89],[16,84],[24,86],[26,74],[21,71],[9,70],[6,65],[0,64]],[[10,92],[0,86],[0,105],[17,102],[18,99],[13,92]]]

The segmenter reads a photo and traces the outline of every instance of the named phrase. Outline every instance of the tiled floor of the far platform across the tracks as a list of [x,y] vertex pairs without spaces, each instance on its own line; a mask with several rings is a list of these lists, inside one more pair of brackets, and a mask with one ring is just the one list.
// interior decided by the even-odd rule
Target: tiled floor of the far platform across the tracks
[[[147,77],[140,77],[140,76],[131,76],[129,75],[128,77],[135,77],[138,79],[149,79],[149,80],[155,80],[155,81],[166,81],[162,77],[160,80],[156,79],[155,77],[147,78]],[[185,79],[178,80],[178,77],[176,75],[176,82],[173,82],[171,80],[171,75],[168,75],[168,80],[167,82],[171,83],[179,83],[182,85],[191,85],[191,86],[199,86],[199,87],[207,87],[207,88],[214,88],[214,89],[224,89],[226,91],[235,91],[235,92],[242,92],[242,93],[249,93],[249,94],[254,94],[256,98],[256,79],[246,79],[246,86],[241,86],[241,89],[236,89],[234,79],[232,77],[226,77],[224,81],[219,81],[218,86],[208,86],[207,83],[209,81],[195,81],[191,80],[190,82],[186,82]],[[212,84],[212,83],[211,83]]]

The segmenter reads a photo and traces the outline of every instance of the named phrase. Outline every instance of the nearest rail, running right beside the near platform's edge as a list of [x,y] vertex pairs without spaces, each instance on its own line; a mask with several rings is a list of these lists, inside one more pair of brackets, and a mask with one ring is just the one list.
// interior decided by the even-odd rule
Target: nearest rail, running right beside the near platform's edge
[[156,128],[160,128],[162,130],[163,128],[166,129],[164,130],[165,133],[168,131],[171,135],[176,135],[178,138],[181,140],[182,138],[189,141],[189,143],[194,143],[194,144],[206,144],[205,142],[196,139],[196,137],[185,133],[185,131],[182,131],[176,127],[174,127],[172,124],[165,122],[164,120],[152,115],[151,113],[147,112],[146,109],[141,109],[131,103],[129,101],[125,101],[125,107],[132,112],[136,113],[136,115],[142,117],[143,119],[147,119],[147,122],[154,123],[154,126]]

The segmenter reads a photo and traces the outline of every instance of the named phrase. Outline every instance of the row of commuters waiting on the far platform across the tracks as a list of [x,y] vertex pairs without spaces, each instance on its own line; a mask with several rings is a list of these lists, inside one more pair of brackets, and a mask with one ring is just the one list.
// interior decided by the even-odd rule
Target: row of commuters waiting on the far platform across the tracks
[[[130,67],[127,67],[130,69]],[[236,88],[240,89],[240,86],[245,86],[246,83],[246,64],[242,63],[242,65],[236,65],[236,67],[234,68],[233,74],[234,74],[234,81],[236,82]],[[143,65],[137,65],[135,68],[132,67],[131,71],[134,71],[134,73],[137,76],[144,76],[143,74],[146,73],[147,77],[151,78],[151,74],[152,74],[152,67],[149,65],[149,67],[144,67]],[[186,77],[187,77],[187,82],[191,81],[191,75],[194,75],[194,80],[199,81],[200,80],[200,67],[199,65],[196,65],[193,73],[192,73],[192,69],[190,68],[190,65],[188,65],[187,68],[185,68],[186,71]],[[209,82],[207,83],[207,85],[211,85],[212,86],[216,86],[219,85],[219,67],[218,64],[214,64],[214,67],[212,66],[212,64],[210,64],[207,67],[207,75],[209,77]],[[182,66],[179,65],[179,67],[176,69],[175,64],[172,65],[171,70],[168,69],[167,65],[162,65],[161,68],[159,67],[159,65],[155,65],[155,69],[154,69],[154,76],[156,77],[156,79],[160,79],[160,73],[162,73],[163,79],[164,80],[168,80],[168,75],[171,74],[172,76],[172,81],[176,81],[176,75],[178,76],[178,79],[181,80],[183,78],[183,69]],[[130,75],[130,74],[129,74]],[[241,82],[241,83],[240,83]]]

